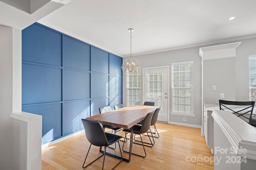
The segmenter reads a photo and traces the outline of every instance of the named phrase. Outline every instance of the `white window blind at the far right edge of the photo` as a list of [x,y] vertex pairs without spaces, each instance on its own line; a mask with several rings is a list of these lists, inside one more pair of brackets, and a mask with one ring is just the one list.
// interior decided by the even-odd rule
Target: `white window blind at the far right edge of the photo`
[[256,101],[256,55],[249,57],[249,100]]

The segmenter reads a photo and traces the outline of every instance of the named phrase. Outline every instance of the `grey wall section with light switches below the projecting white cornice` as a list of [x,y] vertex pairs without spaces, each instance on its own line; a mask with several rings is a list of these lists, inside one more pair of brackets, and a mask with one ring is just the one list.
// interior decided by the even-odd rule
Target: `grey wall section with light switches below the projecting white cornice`
[[[235,72],[236,58],[203,61],[203,102],[218,104],[220,94],[223,100],[236,100]],[[216,86],[216,90],[212,90]]]

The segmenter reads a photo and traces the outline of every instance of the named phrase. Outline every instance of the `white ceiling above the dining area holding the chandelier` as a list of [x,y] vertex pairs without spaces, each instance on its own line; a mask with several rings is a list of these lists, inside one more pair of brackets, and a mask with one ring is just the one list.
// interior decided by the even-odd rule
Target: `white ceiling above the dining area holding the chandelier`
[[256,0],[72,0],[38,22],[127,57],[129,28],[133,55],[256,37],[255,8]]

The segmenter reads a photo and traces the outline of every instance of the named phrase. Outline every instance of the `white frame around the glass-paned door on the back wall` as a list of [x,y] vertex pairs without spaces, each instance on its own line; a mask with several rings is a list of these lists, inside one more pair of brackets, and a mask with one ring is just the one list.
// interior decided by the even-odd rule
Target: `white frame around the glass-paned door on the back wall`
[[145,70],[146,69],[155,69],[155,68],[167,68],[167,123],[170,122],[170,66],[156,66],[156,67],[144,67],[142,68],[142,82],[143,82],[143,88],[142,88],[142,103],[145,102]]

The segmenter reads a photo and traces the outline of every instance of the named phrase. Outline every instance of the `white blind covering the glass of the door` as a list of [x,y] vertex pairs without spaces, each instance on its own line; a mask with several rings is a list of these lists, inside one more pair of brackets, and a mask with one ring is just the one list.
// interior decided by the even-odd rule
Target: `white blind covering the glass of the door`
[[[148,73],[148,102],[155,102],[155,106],[163,106],[163,72]],[[163,115],[162,108],[158,115]]]

